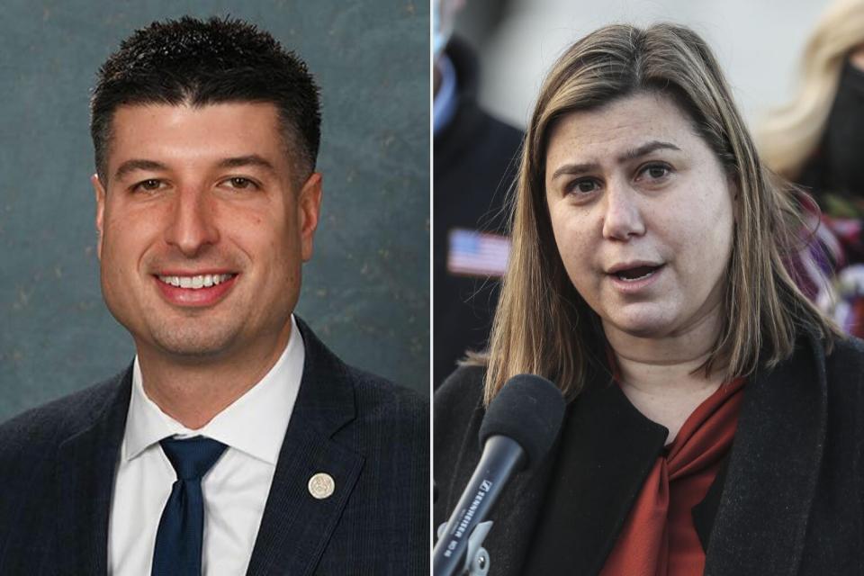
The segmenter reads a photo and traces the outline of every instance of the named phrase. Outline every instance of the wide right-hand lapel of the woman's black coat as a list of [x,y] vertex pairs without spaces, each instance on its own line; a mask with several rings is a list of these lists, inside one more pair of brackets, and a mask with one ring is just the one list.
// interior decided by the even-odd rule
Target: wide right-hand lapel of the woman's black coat
[[809,345],[747,384],[706,574],[797,572],[827,421],[824,352]]

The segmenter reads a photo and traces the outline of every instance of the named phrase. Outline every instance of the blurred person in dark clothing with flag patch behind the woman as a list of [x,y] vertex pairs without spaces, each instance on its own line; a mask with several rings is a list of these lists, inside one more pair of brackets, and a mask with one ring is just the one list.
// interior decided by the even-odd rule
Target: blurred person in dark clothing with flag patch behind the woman
[[509,253],[504,200],[522,133],[477,102],[473,50],[453,35],[464,0],[433,3],[434,228],[433,382],[455,370],[467,350],[486,347],[495,283]]

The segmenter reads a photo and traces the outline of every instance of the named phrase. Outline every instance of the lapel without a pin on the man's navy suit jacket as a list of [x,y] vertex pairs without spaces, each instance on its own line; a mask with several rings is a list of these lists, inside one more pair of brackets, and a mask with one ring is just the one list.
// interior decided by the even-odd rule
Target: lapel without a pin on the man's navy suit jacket
[[131,367],[94,406],[85,428],[58,447],[58,569],[67,574],[107,574],[108,518],[114,471],[129,409]]

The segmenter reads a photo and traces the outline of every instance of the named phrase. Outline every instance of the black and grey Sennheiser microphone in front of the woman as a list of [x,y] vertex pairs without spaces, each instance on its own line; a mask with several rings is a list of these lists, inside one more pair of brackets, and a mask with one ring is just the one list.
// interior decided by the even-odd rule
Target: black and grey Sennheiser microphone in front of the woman
[[561,391],[545,378],[519,374],[504,384],[480,426],[480,462],[433,550],[435,576],[466,570],[474,527],[489,516],[511,476],[543,459],[563,419]]

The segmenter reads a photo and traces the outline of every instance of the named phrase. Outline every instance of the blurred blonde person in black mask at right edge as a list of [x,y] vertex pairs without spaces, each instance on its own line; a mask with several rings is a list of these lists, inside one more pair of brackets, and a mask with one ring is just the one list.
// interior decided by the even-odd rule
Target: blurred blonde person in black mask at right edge
[[[819,286],[799,275],[816,302],[847,332],[864,337],[864,0],[841,0],[807,41],[801,81],[791,103],[757,133],[765,161],[814,194],[824,226],[815,253],[836,274]],[[819,213],[812,211],[813,219]]]

